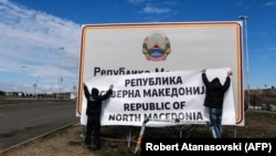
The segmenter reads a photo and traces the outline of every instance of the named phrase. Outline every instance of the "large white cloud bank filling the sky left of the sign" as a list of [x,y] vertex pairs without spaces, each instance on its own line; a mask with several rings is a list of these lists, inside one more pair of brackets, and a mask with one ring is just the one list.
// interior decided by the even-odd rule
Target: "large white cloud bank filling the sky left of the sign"
[[[30,84],[40,76],[40,87],[54,86],[60,69],[64,86],[72,90],[78,76],[81,25],[8,0],[0,0],[0,74],[17,77],[13,83],[9,76],[1,76],[0,86],[19,86],[21,67],[25,66],[23,83]],[[64,50],[59,50],[61,46]]]

